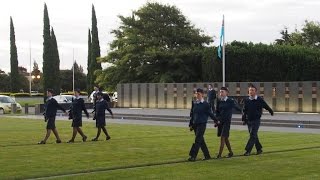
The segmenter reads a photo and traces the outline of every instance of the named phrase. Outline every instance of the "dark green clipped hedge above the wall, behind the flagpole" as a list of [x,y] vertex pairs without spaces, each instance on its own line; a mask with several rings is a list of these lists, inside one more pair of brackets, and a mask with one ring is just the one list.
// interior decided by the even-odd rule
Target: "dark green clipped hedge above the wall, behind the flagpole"
[[[320,50],[303,46],[234,41],[226,45],[227,82],[317,81]],[[202,81],[222,81],[222,61],[216,48],[203,53]]]

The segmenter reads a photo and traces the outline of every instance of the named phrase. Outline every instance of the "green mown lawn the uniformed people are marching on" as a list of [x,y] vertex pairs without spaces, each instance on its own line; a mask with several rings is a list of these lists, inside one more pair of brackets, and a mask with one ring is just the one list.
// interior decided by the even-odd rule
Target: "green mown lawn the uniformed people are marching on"
[[[69,140],[70,122],[57,127]],[[77,136],[74,144],[55,144],[52,135],[37,145],[44,128],[43,120],[0,117],[0,179],[320,179],[317,134],[260,132],[262,155],[187,162],[194,138],[188,128],[110,124],[110,141],[83,143]],[[95,136],[94,123],[84,122],[83,130]],[[248,133],[232,130],[230,138],[235,154],[243,154]],[[206,141],[214,156],[216,129],[207,129]]]

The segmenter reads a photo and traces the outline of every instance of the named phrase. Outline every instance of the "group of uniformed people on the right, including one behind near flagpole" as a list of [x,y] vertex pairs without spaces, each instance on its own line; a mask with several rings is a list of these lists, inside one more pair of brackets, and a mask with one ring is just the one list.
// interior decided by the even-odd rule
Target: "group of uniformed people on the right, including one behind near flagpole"
[[204,100],[203,89],[198,88],[196,90],[196,100],[192,101],[192,107],[190,111],[189,128],[195,133],[195,141],[191,146],[189,153],[189,161],[195,161],[198,151],[201,148],[204,159],[211,159],[211,155],[204,140],[204,133],[206,131],[208,117],[214,121],[214,126],[218,128],[218,137],[220,137],[220,148],[216,158],[221,158],[224,145],[227,146],[229,153],[227,157],[233,156],[233,151],[229,141],[230,125],[232,119],[232,110],[236,109],[242,112],[242,121],[244,125],[248,125],[250,138],[245,147],[244,156],[249,156],[253,146],[256,147],[257,154],[262,153],[262,145],[258,138],[258,130],[260,127],[260,118],[262,115],[262,109],[266,109],[273,116],[273,110],[268,104],[257,95],[257,88],[254,85],[249,87],[249,97],[244,100],[243,109],[239,107],[236,101],[228,97],[229,89],[221,87],[219,91],[220,97],[217,99],[215,107],[216,92],[212,89],[212,86],[208,86],[208,101]]

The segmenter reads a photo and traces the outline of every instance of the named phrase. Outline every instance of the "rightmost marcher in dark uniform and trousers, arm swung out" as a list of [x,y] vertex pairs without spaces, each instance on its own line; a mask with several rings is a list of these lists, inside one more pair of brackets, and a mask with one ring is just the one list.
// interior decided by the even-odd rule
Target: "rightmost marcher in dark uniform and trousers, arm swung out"
[[263,100],[263,98],[257,96],[257,88],[251,85],[249,87],[249,97],[244,101],[242,117],[243,124],[248,124],[248,129],[250,133],[250,138],[245,148],[245,156],[250,155],[254,145],[256,146],[257,154],[262,153],[262,145],[260,144],[258,138],[258,130],[260,127],[262,108],[268,110],[271,116],[273,116],[273,110],[268,106],[268,104]]

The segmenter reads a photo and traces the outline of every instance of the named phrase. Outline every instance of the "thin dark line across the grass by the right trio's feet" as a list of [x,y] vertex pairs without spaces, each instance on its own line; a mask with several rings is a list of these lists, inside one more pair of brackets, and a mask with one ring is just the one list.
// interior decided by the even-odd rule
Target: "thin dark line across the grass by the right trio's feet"
[[[286,152],[303,151],[303,150],[310,150],[310,149],[320,149],[320,146],[268,151],[268,152],[264,152],[263,154],[286,153]],[[235,155],[235,156],[233,156],[233,158],[234,157],[238,157],[239,158],[239,157],[243,157],[243,156],[244,155]],[[222,157],[220,159],[231,159],[231,158]],[[212,158],[209,161],[211,161],[211,160],[220,160],[220,159]],[[161,166],[161,165],[173,165],[173,164],[186,163],[186,162],[188,162],[188,160],[184,159],[184,160],[155,162],[155,163],[128,165],[128,166],[118,166],[118,167],[116,166],[116,167],[109,167],[109,168],[96,168],[96,169],[91,169],[91,170],[86,170],[86,171],[70,171],[70,172],[66,172],[66,173],[57,173],[57,174],[46,175],[46,176],[34,176],[34,177],[28,177],[28,178],[30,178],[30,179],[63,178],[63,177],[76,176],[76,175],[78,176],[78,175],[81,175],[81,174],[116,171],[116,170],[126,170],[126,169],[134,169],[134,168],[144,168],[144,167],[154,167],[154,166]],[[190,162],[190,163],[194,163],[194,162]]]

